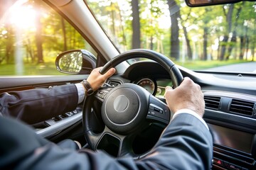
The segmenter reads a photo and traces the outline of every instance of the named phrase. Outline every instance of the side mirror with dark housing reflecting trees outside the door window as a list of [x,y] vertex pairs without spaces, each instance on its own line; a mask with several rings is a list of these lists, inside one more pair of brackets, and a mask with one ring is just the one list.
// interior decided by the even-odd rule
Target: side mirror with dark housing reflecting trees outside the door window
[[62,73],[90,74],[96,67],[96,57],[87,50],[69,50],[58,55],[55,65]]

